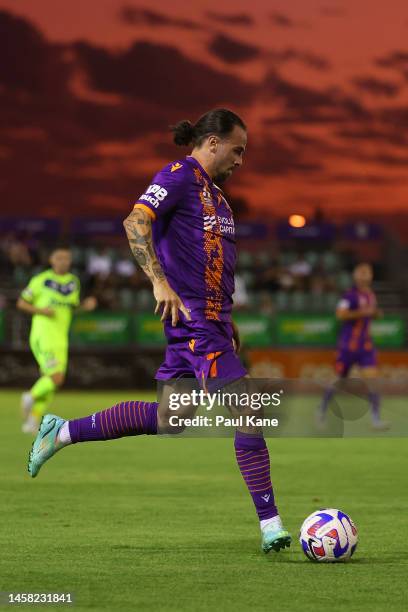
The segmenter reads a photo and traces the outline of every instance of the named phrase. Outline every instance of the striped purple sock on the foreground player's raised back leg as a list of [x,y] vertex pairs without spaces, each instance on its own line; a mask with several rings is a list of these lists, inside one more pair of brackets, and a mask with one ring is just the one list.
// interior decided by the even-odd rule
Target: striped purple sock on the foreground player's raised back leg
[[157,434],[158,405],[156,402],[121,402],[102,412],[69,421],[72,444]]

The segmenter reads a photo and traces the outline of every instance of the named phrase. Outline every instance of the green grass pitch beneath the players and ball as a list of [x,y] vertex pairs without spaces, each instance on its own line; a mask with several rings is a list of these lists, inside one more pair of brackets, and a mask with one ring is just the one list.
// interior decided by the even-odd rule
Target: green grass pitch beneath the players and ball
[[[69,418],[131,397],[65,392],[54,409]],[[19,394],[0,401],[0,591],[70,591],[76,611],[407,609],[406,439],[270,440],[277,502],[295,537],[265,556],[232,440],[78,444],[31,480]],[[327,506],[358,526],[348,564],[313,564],[297,542],[302,520]]]

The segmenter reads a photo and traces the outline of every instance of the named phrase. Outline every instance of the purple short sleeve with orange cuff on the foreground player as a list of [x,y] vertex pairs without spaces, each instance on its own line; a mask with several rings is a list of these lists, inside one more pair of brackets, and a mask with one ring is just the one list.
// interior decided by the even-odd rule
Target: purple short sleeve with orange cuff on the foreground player
[[183,199],[188,186],[186,163],[174,162],[158,172],[134,208],[144,208],[152,219],[165,215]]

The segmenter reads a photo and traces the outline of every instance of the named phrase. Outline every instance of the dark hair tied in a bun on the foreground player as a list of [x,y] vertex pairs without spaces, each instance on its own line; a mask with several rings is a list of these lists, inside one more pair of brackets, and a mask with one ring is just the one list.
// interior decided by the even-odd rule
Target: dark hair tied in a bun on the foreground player
[[189,145],[192,143],[195,147],[199,147],[209,134],[226,136],[236,125],[246,130],[246,125],[241,117],[226,108],[215,108],[202,115],[195,125],[184,119],[170,126],[170,129],[173,132],[175,144]]

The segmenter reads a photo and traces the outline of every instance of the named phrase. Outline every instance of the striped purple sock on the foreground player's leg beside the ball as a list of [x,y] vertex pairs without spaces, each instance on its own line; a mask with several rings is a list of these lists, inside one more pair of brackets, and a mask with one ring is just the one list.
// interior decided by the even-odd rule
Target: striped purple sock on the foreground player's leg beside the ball
[[269,452],[263,436],[235,432],[235,455],[259,520],[278,514],[273,495]]

